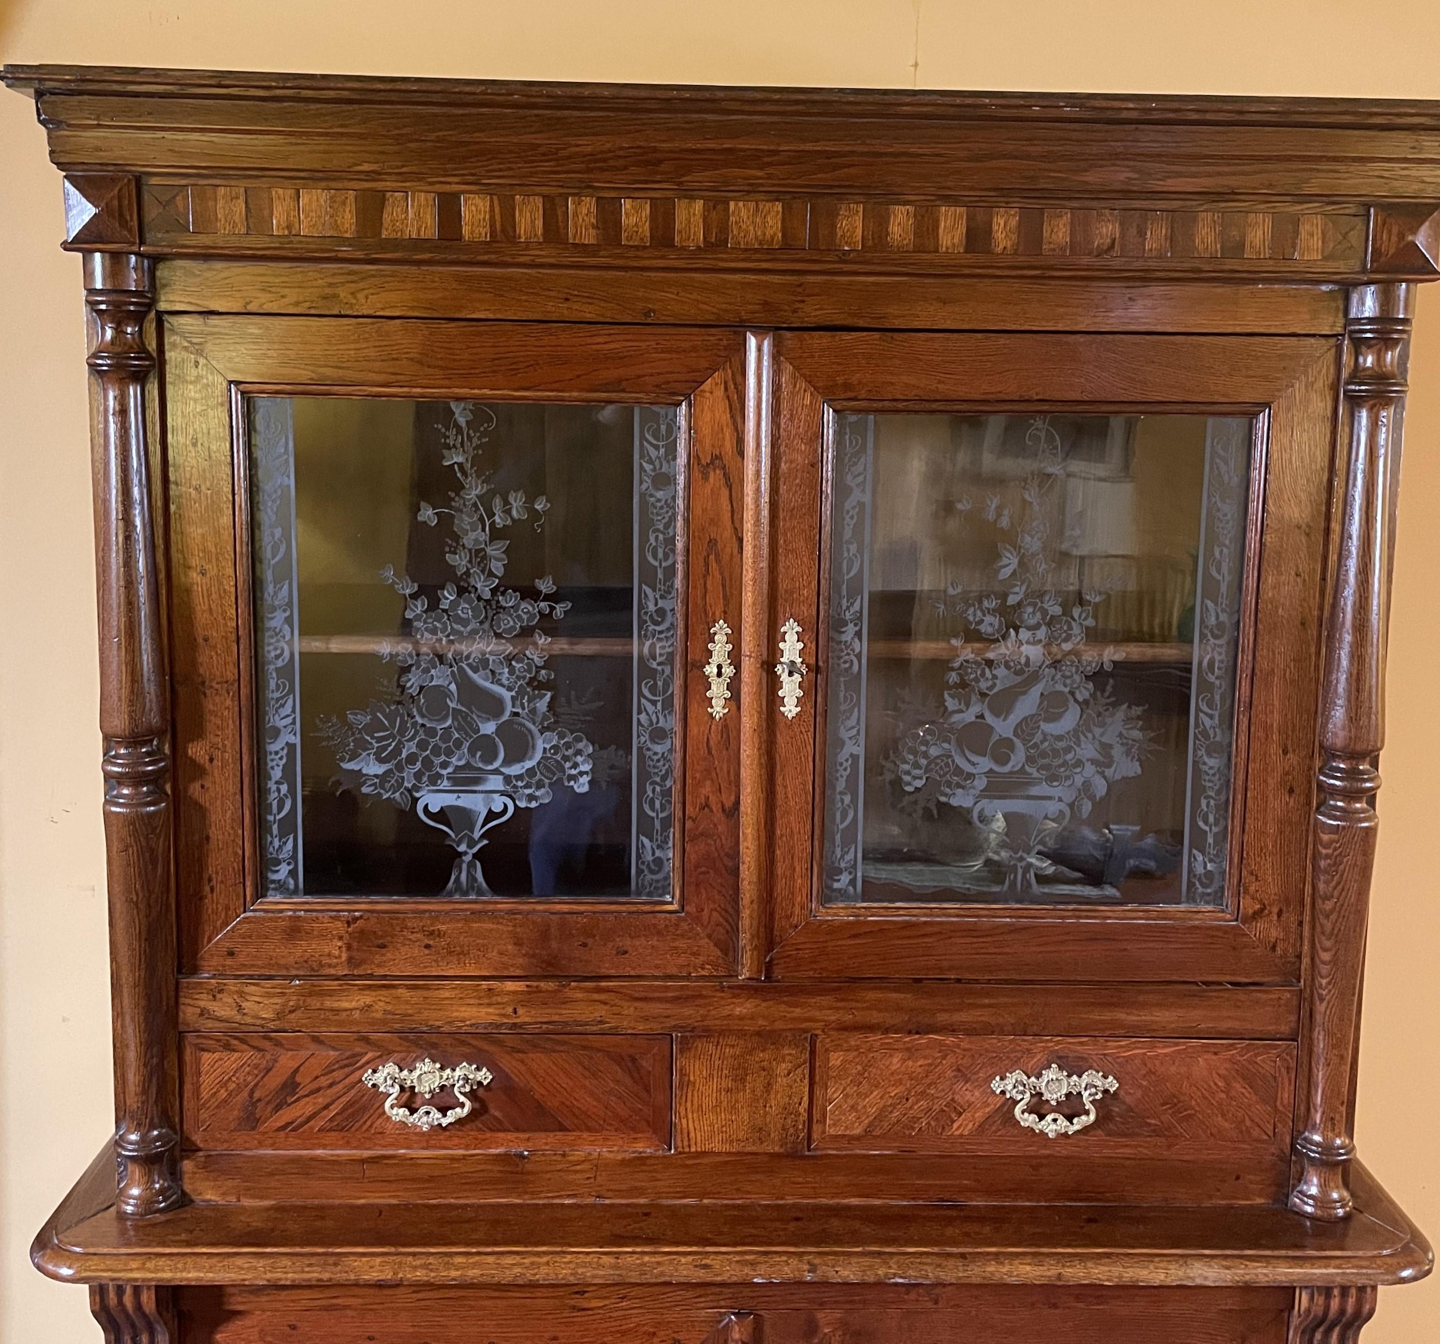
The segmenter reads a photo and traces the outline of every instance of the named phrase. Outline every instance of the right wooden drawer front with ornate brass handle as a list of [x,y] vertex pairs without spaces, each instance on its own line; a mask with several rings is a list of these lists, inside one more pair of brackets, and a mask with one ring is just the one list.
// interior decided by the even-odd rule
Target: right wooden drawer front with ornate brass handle
[[1295,1046],[835,1035],[812,1088],[821,1151],[1269,1163],[1289,1150]]

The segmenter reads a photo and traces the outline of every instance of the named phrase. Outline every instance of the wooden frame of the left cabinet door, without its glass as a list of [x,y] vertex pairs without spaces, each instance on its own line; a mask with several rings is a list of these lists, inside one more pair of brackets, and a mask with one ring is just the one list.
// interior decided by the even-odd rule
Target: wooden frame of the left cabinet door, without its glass
[[[734,974],[742,692],[713,718],[704,665],[714,620],[742,639],[744,332],[171,314],[161,340],[181,971]],[[259,896],[249,394],[681,407],[672,902]]]

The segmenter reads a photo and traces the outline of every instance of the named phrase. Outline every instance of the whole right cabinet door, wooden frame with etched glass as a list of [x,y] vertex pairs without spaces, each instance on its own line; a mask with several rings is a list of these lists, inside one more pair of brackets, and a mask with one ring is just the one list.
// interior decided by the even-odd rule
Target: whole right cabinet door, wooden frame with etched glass
[[[1319,564],[1306,416],[1331,403],[1305,393],[1333,347],[1269,345],[1257,367],[1243,340],[782,340],[779,525],[804,511],[822,544],[776,591],[816,668],[775,753],[808,760],[816,806],[775,819],[806,862],[773,971],[1292,973],[1305,868],[1269,839],[1308,807],[1276,771],[1313,732],[1295,566]],[[1279,468],[1305,494],[1272,517],[1277,442],[1305,445]],[[1269,702],[1279,760],[1251,758]]]

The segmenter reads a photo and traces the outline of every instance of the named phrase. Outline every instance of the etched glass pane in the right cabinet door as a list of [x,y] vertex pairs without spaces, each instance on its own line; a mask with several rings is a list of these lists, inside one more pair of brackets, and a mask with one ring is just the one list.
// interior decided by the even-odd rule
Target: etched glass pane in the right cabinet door
[[1224,904],[1253,432],[835,416],[827,904]]

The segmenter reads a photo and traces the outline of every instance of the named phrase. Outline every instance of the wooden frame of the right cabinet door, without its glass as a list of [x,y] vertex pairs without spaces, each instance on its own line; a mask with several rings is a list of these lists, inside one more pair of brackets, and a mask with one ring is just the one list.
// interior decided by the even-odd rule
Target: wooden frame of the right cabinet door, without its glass
[[[1323,337],[779,332],[775,340],[772,650],[796,619],[811,663],[799,714],[769,688],[772,855],[766,974],[1297,983],[1309,882],[1325,541],[1341,342]],[[1250,676],[1237,686],[1238,868],[1227,909],[824,907],[828,620],[825,481],[838,412],[1191,412],[1260,417],[1251,494]],[[1284,613],[1280,617],[1273,613]],[[1289,619],[1286,619],[1289,617]],[[1243,635],[1243,639],[1246,636]],[[821,675],[815,675],[815,669]]]

